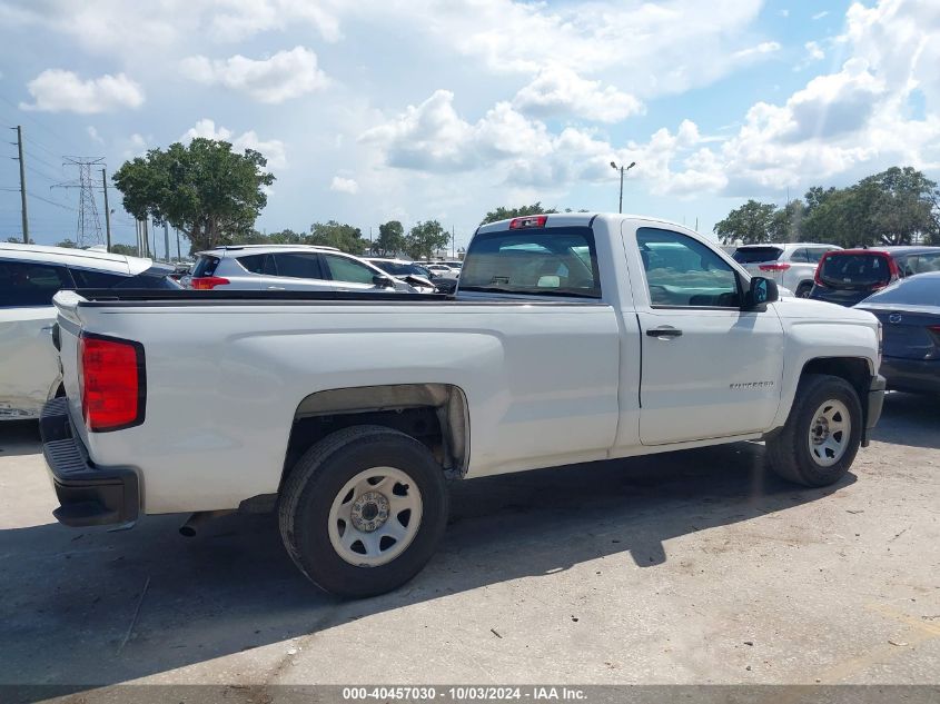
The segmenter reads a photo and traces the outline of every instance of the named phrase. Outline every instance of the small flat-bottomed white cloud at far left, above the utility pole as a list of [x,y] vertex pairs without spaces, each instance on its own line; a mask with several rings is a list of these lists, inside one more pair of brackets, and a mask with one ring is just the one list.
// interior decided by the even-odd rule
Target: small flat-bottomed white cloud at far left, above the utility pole
[[47,69],[27,83],[27,90],[33,102],[21,102],[21,110],[92,115],[144,103],[144,89],[123,73],[82,80],[71,71]]

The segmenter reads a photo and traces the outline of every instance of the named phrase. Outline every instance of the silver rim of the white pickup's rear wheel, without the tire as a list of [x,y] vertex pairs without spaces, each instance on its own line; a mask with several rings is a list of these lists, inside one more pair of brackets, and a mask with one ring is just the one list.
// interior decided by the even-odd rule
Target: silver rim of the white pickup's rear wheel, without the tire
[[333,499],[329,543],[350,565],[378,567],[405,552],[420,519],[415,480],[395,467],[370,467],[349,479]]

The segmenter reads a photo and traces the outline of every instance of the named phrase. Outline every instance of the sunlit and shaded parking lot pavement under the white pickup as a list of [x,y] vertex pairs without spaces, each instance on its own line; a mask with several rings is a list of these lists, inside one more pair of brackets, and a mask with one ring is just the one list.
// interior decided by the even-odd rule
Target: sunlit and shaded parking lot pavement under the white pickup
[[461,483],[413,583],[340,602],[269,516],[59,526],[0,426],[0,684],[936,684],[940,404],[874,438],[821,490],[758,444]]

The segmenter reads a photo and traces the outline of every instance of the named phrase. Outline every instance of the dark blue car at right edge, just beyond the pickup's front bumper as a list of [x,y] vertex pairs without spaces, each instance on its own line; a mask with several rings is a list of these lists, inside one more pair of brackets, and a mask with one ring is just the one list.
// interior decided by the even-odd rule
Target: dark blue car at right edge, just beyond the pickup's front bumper
[[940,394],[940,270],[900,279],[855,308],[881,320],[888,388]]

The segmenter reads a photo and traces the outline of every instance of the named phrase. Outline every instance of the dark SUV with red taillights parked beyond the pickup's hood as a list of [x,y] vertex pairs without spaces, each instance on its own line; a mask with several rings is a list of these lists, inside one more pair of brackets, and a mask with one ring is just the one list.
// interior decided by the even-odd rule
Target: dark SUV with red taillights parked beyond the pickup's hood
[[914,274],[940,271],[940,247],[843,249],[823,256],[810,298],[854,306]]

